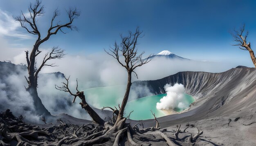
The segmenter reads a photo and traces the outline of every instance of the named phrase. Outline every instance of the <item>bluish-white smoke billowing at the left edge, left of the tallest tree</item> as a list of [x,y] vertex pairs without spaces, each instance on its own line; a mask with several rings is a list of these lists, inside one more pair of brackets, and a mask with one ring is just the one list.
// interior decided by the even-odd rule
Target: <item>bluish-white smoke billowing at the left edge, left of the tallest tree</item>
[[34,100],[24,88],[26,82],[20,80],[23,74],[19,69],[17,73],[0,77],[0,111],[9,108],[14,115],[23,115],[26,120],[38,123],[40,116],[33,114],[36,111]]

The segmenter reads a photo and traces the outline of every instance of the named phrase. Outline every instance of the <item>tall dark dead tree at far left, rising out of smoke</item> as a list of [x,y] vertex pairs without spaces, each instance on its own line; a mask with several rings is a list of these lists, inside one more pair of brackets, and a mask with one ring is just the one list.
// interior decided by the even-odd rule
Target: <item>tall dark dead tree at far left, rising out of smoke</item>
[[29,51],[26,52],[26,59],[27,59],[27,70],[28,70],[28,78],[26,78],[28,87],[26,88],[27,91],[32,95],[34,98],[34,104],[36,105],[37,112],[40,115],[50,115],[49,111],[45,108],[45,106],[42,104],[40,98],[38,97],[37,93],[37,80],[38,80],[38,73],[41,71],[41,69],[44,66],[55,66],[54,64],[47,64],[49,60],[52,59],[61,59],[64,57],[65,53],[64,50],[59,49],[58,47],[53,47],[52,51],[45,54],[45,57],[43,59],[43,62],[40,64],[39,67],[36,66],[36,58],[38,55],[42,52],[39,50],[39,46],[49,40],[49,38],[52,35],[56,35],[59,31],[62,33],[64,32],[64,28],[76,30],[76,27],[72,25],[74,20],[79,17],[80,13],[77,11],[77,9],[69,9],[67,11],[67,17],[68,22],[64,24],[60,24],[60,21],[56,22],[56,18],[60,15],[58,9],[56,9],[53,13],[53,17],[50,21],[50,27],[46,31],[47,35],[45,37],[42,37],[40,32],[38,30],[38,17],[43,16],[45,7],[41,4],[42,2],[40,0],[36,0],[35,4],[30,4],[28,11],[29,16],[26,16],[22,11],[21,15],[14,18],[17,22],[20,23],[21,27],[24,28],[28,33],[32,35],[36,35],[36,42],[33,46],[33,49],[31,50],[31,53],[29,54]]

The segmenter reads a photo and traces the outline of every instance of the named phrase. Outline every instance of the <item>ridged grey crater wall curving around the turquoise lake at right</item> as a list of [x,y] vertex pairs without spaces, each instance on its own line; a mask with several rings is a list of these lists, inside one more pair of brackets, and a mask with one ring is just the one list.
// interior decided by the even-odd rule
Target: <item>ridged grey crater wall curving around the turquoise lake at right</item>
[[[162,126],[221,116],[256,105],[256,69],[233,68],[223,73],[179,72],[154,81],[133,84],[148,86],[151,92],[165,93],[165,84],[181,83],[196,101],[189,111],[160,117]],[[152,120],[148,120],[152,122]]]

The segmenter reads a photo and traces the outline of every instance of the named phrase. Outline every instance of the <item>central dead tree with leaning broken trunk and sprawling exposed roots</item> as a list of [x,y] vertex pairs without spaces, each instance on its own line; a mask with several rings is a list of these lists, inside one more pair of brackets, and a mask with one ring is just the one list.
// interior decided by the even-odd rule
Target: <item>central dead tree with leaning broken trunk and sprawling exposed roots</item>
[[[105,122],[103,119],[101,119],[101,117],[99,117],[99,115],[88,105],[88,103],[85,100],[85,95],[83,94],[83,91],[79,91],[78,90],[78,82],[76,80],[76,94],[72,93],[70,91],[69,88],[69,78],[66,78],[66,82],[63,82],[62,86],[55,86],[56,89],[60,90],[60,91],[65,91],[70,93],[70,95],[74,96],[74,101],[76,100],[76,97],[79,97],[81,99],[82,102],[80,102],[81,107],[85,109],[85,111],[87,111],[89,113],[89,115],[92,117],[92,121],[94,123],[99,124],[99,126],[96,126],[93,129],[90,129],[91,131],[86,133],[83,137],[79,137],[78,135],[72,134],[70,136],[67,137],[63,137],[63,139],[61,139],[57,145],[61,145],[61,144],[76,144],[76,145],[92,145],[92,144],[99,144],[99,145],[119,145],[119,141],[122,137],[126,136],[128,142],[131,145],[134,146],[139,146],[141,144],[145,144],[145,142],[139,142],[141,144],[138,144],[137,142],[134,142],[132,139],[133,135],[137,135],[137,137],[141,137],[141,139],[143,139],[143,137],[145,135],[141,135],[143,133],[146,133],[148,135],[161,135],[163,139],[166,140],[166,143],[169,146],[176,146],[176,144],[169,139],[164,133],[160,132],[159,129],[159,123],[157,121],[157,118],[155,117],[155,114],[152,112],[152,114],[155,117],[155,121],[156,121],[156,127],[152,127],[152,128],[146,128],[146,129],[141,129],[139,130],[138,128],[138,124],[135,124],[135,126],[131,126],[130,123],[126,123],[126,119],[129,117],[123,117],[124,116],[124,108],[126,106],[127,100],[128,100],[128,96],[129,96],[129,92],[130,92],[130,86],[131,86],[131,75],[132,73],[135,73],[134,69],[136,69],[139,66],[142,66],[143,64],[148,63],[150,60],[148,60],[148,58],[146,59],[142,59],[142,55],[144,53],[141,54],[137,54],[137,39],[140,38],[141,32],[139,31],[139,28],[136,29],[135,33],[131,33],[129,31],[129,35],[127,37],[123,37],[122,38],[122,42],[120,45],[117,45],[117,43],[115,43],[115,47],[110,49],[111,53],[107,52],[109,55],[113,56],[115,59],[117,59],[117,61],[119,62],[119,64],[121,64],[123,67],[126,68],[127,72],[128,72],[128,83],[127,83],[127,87],[126,87],[126,93],[124,95],[124,99],[123,102],[121,104],[121,106],[119,106],[119,109],[112,108],[112,107],[103,107],[103,109],[105,108],[110,108],[113,111],[113,117],[112,117],[112,121],[111,118],[110,122]],[[119,54],[120,53],[120,54]],[[124,62],[122,63],[121,59],[119,58],[119,56],[123,56],[124,57]],[[135,75],[137,76],[137,74],[135,73]],[[131,112],[132,113],[132,112]],[[142,127],[144,128],[143,123],[141,122]],[[152,132],[155,131],[154,133],[148,133],[148,132]],[[76,133],[76,132],[74,132]],[[144,137],[145,138],[145,137]]]

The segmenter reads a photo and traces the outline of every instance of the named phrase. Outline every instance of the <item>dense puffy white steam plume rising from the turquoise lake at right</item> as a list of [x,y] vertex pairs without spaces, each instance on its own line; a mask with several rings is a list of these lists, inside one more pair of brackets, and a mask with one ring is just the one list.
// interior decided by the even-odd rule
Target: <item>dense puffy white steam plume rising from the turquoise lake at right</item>
[[166,96],[160,99],[160,102],[157,102],[157,109],[170,110],[175,108],[186,109],[189,108],[189,102],[185,98],[185,88],[182,84],[166,84],[164,86],[166,91]]

